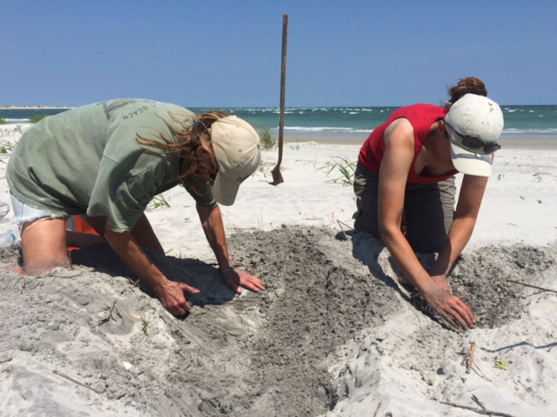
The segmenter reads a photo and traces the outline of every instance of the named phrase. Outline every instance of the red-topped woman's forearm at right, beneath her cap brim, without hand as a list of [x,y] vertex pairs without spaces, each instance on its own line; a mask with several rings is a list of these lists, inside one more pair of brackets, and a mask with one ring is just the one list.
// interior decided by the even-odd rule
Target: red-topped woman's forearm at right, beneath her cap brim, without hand
[[445,247],[439,254],[433,269],[431,269],[431,275],[448,275],[454,261],[462,254],[462,250],[468,244],[475,224],[476,219],[472,217],[454,219],[446,237]]

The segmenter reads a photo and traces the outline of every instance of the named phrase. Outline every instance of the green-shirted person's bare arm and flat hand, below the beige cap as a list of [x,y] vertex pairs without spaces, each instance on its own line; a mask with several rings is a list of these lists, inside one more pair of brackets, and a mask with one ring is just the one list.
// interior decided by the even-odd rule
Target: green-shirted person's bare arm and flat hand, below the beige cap
[[241,287],[247,288],[254,292],[260,292],[265,289],[265,285],[256,277],[248,274],[248,272],[236,270],[232,268],[232,262],[228,256],[228,247],[226,246],[225,226],[220,208],[202,207],[196,205],[199,219],[201,220],[205,237],[215,256],[217,257],[218,268],[220,271],[226,271],[222,276],[223,281],[233,291],[240,293]]

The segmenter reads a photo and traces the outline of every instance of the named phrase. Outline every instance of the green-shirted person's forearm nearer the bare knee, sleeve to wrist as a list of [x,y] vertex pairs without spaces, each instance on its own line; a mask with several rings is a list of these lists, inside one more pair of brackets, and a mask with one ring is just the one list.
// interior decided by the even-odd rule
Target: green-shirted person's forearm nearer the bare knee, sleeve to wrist
[[158,292],[164,287],[167,282],[166,277],[153,262],[149,261],[129,231],[118,233],[107,227],[104,231],[104,239],[128,268],[132,269],[135,275],[145,281],[153,291]]

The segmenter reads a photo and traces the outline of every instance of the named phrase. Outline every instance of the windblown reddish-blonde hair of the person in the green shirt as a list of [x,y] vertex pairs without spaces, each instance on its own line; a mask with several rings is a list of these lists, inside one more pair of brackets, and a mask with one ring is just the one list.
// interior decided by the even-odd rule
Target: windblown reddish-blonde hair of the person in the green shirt
[[[207,150],[215,169],[218,165],[210,138],[202,126],[196,125],[195,132],[193,132],[194,129],[191,129],[190,132],[190,127],[194,125],[195,121],[200,121],[209,129],[219,118],[225,118],[228,114],[225,111],[213,110],[202,115],[195,115],[195,118],[192,118],[191,115],[169,111],[168,116],[170,120],[162,119],[170,129],[174,140],[166,138],[164,133],[160,131],[156,131],[157,134],[154,138],[145,138],[137,133],[135,140],[143,150],[152,155],[178,154],[184,160],[184,169],[179,174],[182,186],[191,188],[195,193],[200,193],[201,184],[195,177],[200,171],[204,171],[205,167],[195,154],[197,147],[202,146]],[[192,142],[192,136],[194,142]],[[156,152],[148,147],[161,149],[161,151]]]

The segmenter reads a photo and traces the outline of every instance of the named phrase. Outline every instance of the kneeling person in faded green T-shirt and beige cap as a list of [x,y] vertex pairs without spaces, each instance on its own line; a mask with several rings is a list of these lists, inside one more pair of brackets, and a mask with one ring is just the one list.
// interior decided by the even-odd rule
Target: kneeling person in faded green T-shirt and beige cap
[[43,118],[19,140],[6,178],[19,225],[23,267],[36,276],[70,267],[66,246],[91,241],[65,230],[86,221],[173,315],[189,310],[197,289],[164,277],[141,246],[164,254],[144,214],[158,193],[182,185],[195,201],[225,284],[254,292],[264,284],[233,269],[218,203],[232,205],[261,159],[251,125],[222,111],[196,116],[150,100],[112,100]]

